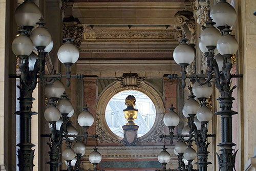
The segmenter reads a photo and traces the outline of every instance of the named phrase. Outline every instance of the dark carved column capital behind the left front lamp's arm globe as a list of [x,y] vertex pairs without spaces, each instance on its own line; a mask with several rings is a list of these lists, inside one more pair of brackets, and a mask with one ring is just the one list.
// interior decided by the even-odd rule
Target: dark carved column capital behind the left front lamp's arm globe
[[63,38],[71,37],[74,39],[74,45],[80,50],[83,40],[83,27],[77,22],[63,22]]

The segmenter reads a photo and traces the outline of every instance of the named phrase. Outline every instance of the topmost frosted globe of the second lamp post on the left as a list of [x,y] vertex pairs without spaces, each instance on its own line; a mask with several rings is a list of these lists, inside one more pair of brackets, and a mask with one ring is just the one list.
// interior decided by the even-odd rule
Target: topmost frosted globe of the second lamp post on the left
[[56,79],[53,84],[47,84],[45,87],[45,93],[48,98],[60,98],[63,92],[65,92],[65,86],[59,79]]

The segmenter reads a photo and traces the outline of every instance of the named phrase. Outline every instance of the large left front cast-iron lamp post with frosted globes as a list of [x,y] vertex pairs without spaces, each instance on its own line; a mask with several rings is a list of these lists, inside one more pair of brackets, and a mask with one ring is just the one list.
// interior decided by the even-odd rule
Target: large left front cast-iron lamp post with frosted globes
[[[42,14],[39,8],[30,0],[26,0],[24,3],[19,5],[15,11],[15,21],[20,27],[18,31],[19,36],[17,36],[12,42],[12,51],[18,56],[19,64],[18,68],[20,70],[20,75],[14,75],[10,77],[19,77],[20,84],[18,86],[20,91],[19,108],[15,114],[20,116],[20,143],[18,149],[18,166],[19,170],[29,171],[33,170],[33,156],[34,150],[31,148],[34,144],[31,143],[31,116],[36,113],[31,112],[33,90],[37,84],[37,78],[43,84],[52,83],[57,78],[66,77],[67,86],[69,86],[69,79],[71,77],[78,78],[82,75],[71,75],[70,67],[75,63],[79,57],[78,50],[75,51],[74,47],[71,45],[71,39],[67,39],[67,43],[70,44],[65,51],[65,55],[68,61],[62,61],[66,66],[66,75],[56,74],[56,75],[45,75],[45,57],[48,52],[51,51],[53,47],[53,41],[50,33],[44,27],[45,23],[42,22]],[[38,22],[39,21],[39,22]],[[33,28],[38,25],[37,28]],[[38,53],[38,56],[32,53],[32,50]],[[73,49],[72,49],[73,48]],[[61,52],[63,49],[59,50],[58,56],[61,58]],[[62,58],[61,58],[62,59]],[[47,82],[46,78],[51,78],[50,82]],[[49,104],[53,105],[53,104]],[[48,117],[49,122],[56,120],[55,117]],[[54,125],[52,125],[54,128]],[[56,154],[54,154],[56,156]]]

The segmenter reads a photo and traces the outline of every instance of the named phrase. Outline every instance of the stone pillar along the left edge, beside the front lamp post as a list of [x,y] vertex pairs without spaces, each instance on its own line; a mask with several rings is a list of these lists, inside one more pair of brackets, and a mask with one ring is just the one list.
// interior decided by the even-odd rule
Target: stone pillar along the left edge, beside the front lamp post
[[11,44],[16,36],[14,11],[17,1],[0,1],[0,170],[16,170],[16,57]]

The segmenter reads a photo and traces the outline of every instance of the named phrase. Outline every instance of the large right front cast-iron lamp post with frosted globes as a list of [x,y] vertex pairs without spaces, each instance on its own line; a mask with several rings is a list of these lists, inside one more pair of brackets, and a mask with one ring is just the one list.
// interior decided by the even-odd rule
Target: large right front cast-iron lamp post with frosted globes
[[[232,111],[232,101],[234,100],[232,92],[236,86],[231,87],[231,79],[242,77],[242,75],[232,75],[230,73],[232,68],[231,56],[237,52],[238,42],[229,34],[231,31],[229,28],[235,24],[237,14],[234,8],[225,0],[220,0],[218,4],[212,7],[210,16],[212,19],[209,18],[207,30],[205,29],[201,33],[199,45],[200,50],[204,52],[206,56],[207,75],[196,75],[196,73],[187,75],[185,65],[181,65],[177,60],[176,62],[182,69],[181,76],[170,75],[169,78],[181,78],[183,80],[183,87],[185,87],[186,78],[195,79],[199,83],[199,86],[209,84],[210,82],[215,83],[221,95],[221,97],[218,98],[221,111],[215,113],[221,116],[221,143],[218,145],[221,147],[220,154],[218,155],[219,168],[222,171],[231,171],[234,168],[237,154],[232,148],[232,146],[236,145],[232,142],[232,115],[237,114],[237,112]],[[220,33],[214,28],[214,24],[216,24],[216,27],[222,32],[221,37],[219,36]],[[220,54],[214,57],[216,47]],[[205,48],[208,52],[205,51]],[[185,54],[191,53],[189,48],[184,49],[184,51]],[[186,55],[179,55],[179,53],[174,51],[174,57],[175,56],[176,58],[185,60],[186,65],[191,63],[190,57],[186,57]],[[206,78],[206,80],[200,81],[199,78]],[[204,130],[205,129],[207,128],[204,127]],[[201,130],[201,132],[203,132],[203,130]]]

